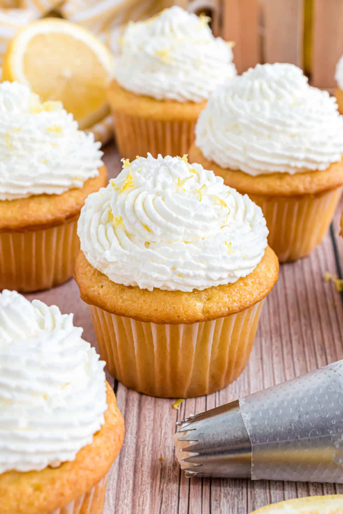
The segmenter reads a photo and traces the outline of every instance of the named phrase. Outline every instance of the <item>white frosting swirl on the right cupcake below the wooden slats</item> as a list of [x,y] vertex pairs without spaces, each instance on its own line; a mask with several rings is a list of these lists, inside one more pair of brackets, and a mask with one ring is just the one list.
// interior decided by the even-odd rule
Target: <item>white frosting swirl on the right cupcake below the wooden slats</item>
[[198,118],[195,144],[249,175],[326,170],[343,155],[343,117],[293,64],[258,64],[220,86]]

